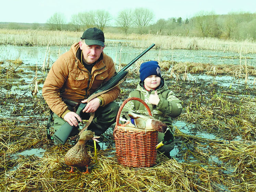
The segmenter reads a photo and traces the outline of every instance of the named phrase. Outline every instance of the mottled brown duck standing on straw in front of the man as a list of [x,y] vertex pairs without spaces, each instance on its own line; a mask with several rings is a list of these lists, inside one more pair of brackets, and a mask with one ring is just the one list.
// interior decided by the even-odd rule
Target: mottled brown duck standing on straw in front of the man
[[91,162],[91,157],[86,151],[85,143],[91,139],[99,142],[96,138],[94,138],[92,131],[83,131],[77,143],[66,153],[64,161],[66,165],[71,166],[70,173],[74,173],[73,167],[85,166],[86,172],[84,173],[89,173],[88,165]]

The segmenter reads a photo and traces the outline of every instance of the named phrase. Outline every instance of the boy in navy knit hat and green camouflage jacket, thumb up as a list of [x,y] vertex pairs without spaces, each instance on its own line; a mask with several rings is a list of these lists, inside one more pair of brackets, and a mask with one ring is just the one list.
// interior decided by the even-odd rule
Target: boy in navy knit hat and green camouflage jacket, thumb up
[[[158,133],[158,142],[163,141],[163,146],[158,150],[170,157],[170,151],[174,148],[173,126],[171,118],[181,114],[181,101],[174,95],[161,77],[160,66],[157,61],[147,61],[141,64],[139,69],[141,81],[129,97],[137,97],[146,102],[152,115],[166,123],[169,127],[166,133]],[[122,111],[136,111],[148,114],[145,106],[136,100],[127,102]],[[165,136],[165,137],[164,137]]]

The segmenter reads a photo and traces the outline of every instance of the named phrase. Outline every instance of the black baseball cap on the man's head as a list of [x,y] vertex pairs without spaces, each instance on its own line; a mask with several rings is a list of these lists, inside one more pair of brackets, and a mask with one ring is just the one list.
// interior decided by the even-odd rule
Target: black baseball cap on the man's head
[[87,45],[100,45],[104,47],[104,33],[96,27],[86,29],[81,39],[84,39]]

